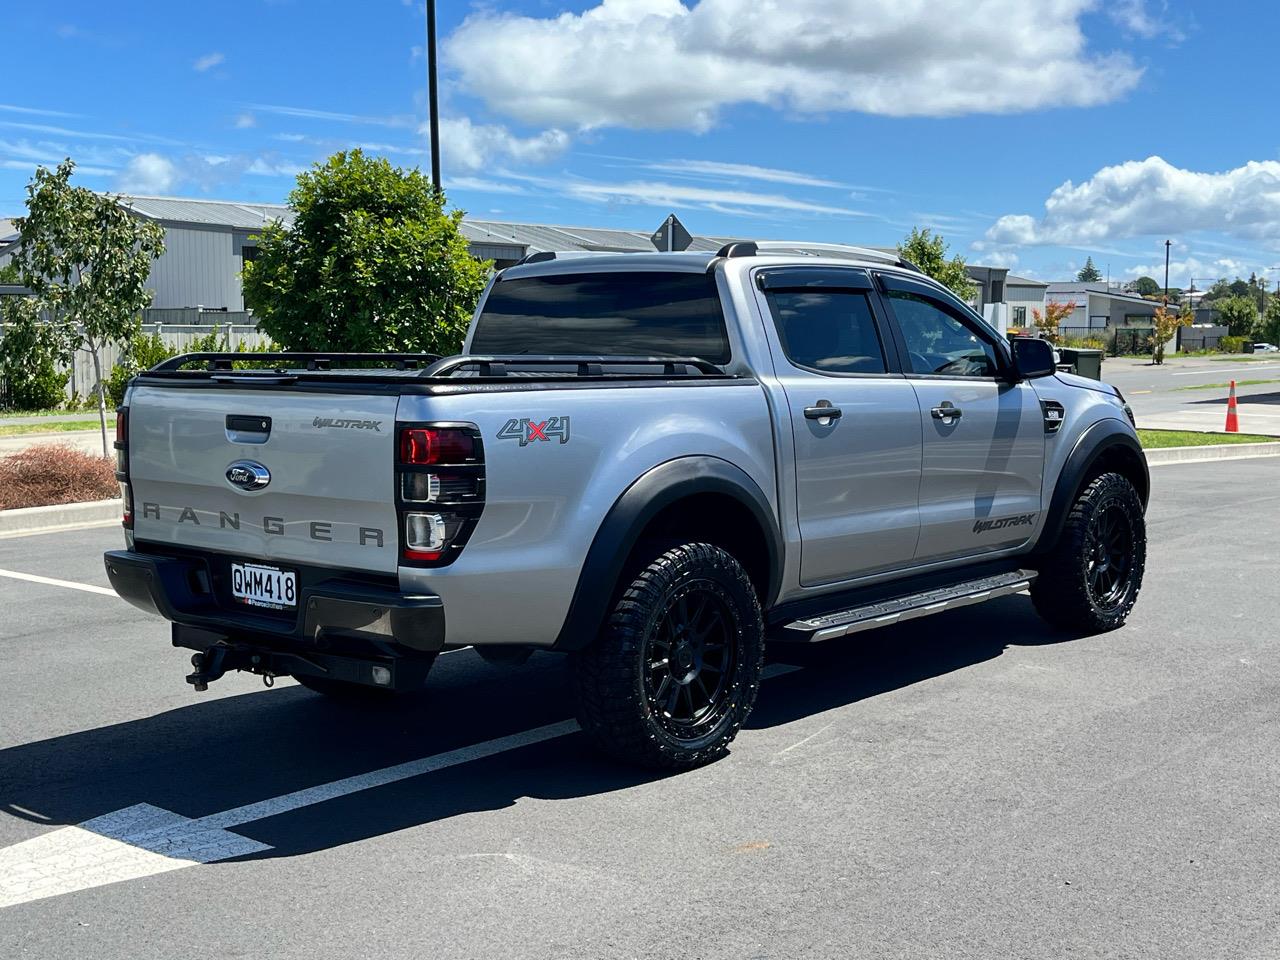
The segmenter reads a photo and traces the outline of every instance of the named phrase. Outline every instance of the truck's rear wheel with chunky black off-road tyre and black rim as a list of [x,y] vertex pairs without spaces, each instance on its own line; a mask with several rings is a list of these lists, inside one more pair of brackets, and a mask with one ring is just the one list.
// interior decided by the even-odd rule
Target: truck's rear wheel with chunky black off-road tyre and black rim
[[728,751],[763,668],[760,602],[742,566],[710,544],[675,547],[635,575],[575,654],[579,723],[628,763],[698,767]]

